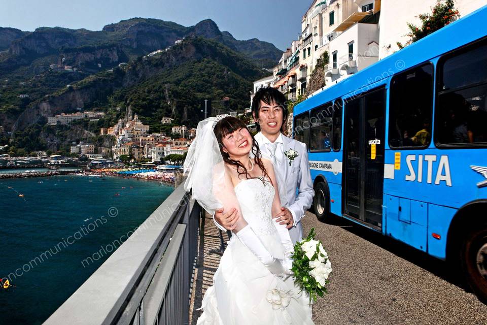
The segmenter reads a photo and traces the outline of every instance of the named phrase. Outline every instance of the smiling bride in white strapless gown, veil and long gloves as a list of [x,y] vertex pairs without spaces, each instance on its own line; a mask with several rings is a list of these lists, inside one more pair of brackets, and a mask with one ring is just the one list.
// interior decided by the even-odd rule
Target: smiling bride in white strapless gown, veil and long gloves
[[291,277],[289,232],[272,220],[280,184],[245,123],[228,115],[199,122],[184,170],[186,190],[208,213],[223,207],[239,215],[197,324],[314,324],[309,298]]

